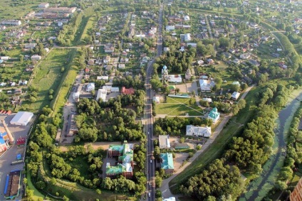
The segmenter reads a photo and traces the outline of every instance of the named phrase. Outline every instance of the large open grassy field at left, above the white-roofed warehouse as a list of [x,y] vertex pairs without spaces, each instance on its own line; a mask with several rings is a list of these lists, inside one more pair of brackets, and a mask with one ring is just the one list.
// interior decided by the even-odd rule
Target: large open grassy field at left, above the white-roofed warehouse
[[55,93],[58,90],[61,80],[64,78],[61,67],[66,67],[71,61],[72,51],[70,49],[53,49],[36,67],[36,75],[31,85],[38,88],[38,97],[36,102],[28,106],[28,109],[38,112],[38,110],[50,104],[51,100],[48,99],[48,92],[50,89],[53,89]]

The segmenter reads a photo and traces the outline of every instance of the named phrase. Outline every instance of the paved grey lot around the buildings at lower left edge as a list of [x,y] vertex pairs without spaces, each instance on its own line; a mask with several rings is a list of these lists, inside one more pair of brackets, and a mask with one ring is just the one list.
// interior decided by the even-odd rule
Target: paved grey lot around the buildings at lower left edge
[[[6,125],[9,128],[9,131],[11,131],[11,134],[14,136],[15,144],[10,146],[9,150],[7,150],[5,153],[3,153],[0,156],[0,200],[6,200],[4,198],[4,187],[6,183],[6,175],[11,172],[11,170],[23,170],[24,169],[24,163],[19,163],[18,165],[11,165],[11,162],[16,161],[17,154],[21,153],[22,157],[24,157],[24,150],[26,146],[16,146],[16,140],[19,137],[26,137],[28,138],[28,132],[31,129],[31,124],[33,124],[33,120],[36,118],[36,116],[33,116],[33,119],[27,124],[27,126],[15,126],[9,124],[11,119],[15,114],[11,114],[9,116],[0,115],[0,121],[2,119],[5,120]],[[2,126],[2,124],[1,124]],[[23,183],[23,177],[21,178],[21,183]],[[22,185],[19,192],[19,197],[16,197],[16,200],[21,200],[22,195]]]

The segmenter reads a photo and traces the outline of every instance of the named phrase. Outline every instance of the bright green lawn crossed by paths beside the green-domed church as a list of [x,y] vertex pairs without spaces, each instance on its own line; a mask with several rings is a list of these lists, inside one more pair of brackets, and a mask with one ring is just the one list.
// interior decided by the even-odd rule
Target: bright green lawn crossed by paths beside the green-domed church
[[195,99],[192,104],[189,104],[189,99],[167,97],[167,103],[156,105],[156,114],[167,114],[168,116],[184,116],[186,113],[189,116],[202,116],[203,111],[195,104]]

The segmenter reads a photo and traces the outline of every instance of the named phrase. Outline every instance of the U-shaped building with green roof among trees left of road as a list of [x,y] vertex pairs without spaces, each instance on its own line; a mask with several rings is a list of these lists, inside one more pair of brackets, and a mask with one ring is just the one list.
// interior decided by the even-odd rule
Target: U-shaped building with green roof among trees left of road
[[123,175],[126,178],[133,176],[133,144],[124,141],[123,145],[110,145],[108,148],[108,156],[118,156],[118,165],[111,166],[106,164],[106,176],[114,178],[116,175]]

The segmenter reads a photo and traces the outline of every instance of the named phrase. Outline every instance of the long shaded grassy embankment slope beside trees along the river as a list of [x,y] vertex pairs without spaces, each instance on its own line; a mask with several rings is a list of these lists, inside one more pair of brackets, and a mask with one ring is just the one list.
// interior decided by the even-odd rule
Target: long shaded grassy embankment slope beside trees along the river
[[217,136],[215,141],[212,143],[207,150],[205,150],[196,160],[194,160],[189,167],[187,167],[182,173],[179,173],[177,177],[171,180],[169,183],[172,188],[170,190],[173,194],[177,194],[179,185],[185,183],[193,175],[202,172],[202,169],[215,158],[222,156],[224,149],[227,144],[231,141],[233,136],[239,134],[244,126],[239,126],[240,124],[246,124],[250,121],[251,117],[254,115],[254,110],[251,107],[256,104],[256,92],[258,88],[253,88],[246,96],[246,107],[242,109],[239,114],[234,116],[229,120],[229,123],[222,132]]

